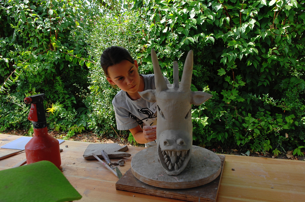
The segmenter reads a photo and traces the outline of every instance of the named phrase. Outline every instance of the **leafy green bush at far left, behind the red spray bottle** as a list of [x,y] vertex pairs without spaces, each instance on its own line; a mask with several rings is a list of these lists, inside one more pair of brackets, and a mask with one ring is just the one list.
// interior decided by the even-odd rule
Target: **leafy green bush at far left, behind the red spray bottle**
[[[60,104],[48,123],[56,130],[82,131],[88,68],[87,28],[94,8],[77,0],[2,1],[0,5],[0,130],[30,127],[23,99],[45,93],[46,107]],[[89,16],[89,17],[88,17]],[[89,62],[90,63],[90,62]],[[56,111],[55,110],[55,111]],[[53,108],[54,113],[54,108]]]

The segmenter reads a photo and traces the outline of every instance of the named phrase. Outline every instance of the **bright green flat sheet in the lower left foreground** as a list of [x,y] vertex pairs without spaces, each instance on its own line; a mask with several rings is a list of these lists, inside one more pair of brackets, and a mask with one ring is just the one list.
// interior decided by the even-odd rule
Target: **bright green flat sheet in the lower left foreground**
[[81,197],[49,161],[0,171],[1,202],[63,202]]

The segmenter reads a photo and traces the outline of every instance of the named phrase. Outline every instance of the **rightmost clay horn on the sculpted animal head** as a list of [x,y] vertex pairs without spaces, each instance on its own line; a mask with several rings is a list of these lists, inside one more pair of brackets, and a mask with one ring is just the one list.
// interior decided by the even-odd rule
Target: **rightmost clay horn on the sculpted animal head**
[[193,50],[190,50],[188,52],[188,56],[186,57],[184,63],[179,91],[187,92],[190,90],[191,82],[192,82],[192,74],[193,74]]

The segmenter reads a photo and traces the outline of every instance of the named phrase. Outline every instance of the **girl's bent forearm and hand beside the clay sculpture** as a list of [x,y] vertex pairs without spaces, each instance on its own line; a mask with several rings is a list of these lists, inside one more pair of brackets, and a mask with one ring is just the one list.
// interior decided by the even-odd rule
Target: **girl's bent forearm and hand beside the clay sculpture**
[[143,126],[143,130],[138,125],[135,128],[129,129],[133,137],[135,138],[135,141],[137,141],[140,144],[144,144],[150,141],[154,141],[156,137],[156,125],[155,126]]

